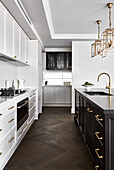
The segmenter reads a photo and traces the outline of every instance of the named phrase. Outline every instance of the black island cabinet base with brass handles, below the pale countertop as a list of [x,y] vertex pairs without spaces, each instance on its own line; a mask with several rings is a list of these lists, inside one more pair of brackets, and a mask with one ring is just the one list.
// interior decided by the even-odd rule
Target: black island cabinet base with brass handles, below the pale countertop
[[114,110],[103,109],[75,90],[74,118],[95,169],[114,170]]

